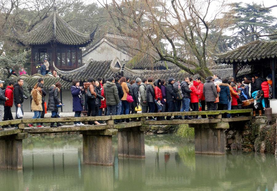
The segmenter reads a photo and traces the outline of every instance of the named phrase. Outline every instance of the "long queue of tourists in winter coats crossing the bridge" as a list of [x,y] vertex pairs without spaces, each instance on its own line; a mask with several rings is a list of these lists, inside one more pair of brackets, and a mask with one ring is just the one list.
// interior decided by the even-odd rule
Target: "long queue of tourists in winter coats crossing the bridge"
[[[87,116],[106,116],[154,112],[188,112],[188,111],[215,111],[231,110],[241,108],[253,108],[253,115],[262,115],[265,108],[269,107],[269,99],[272,94],[271,75],[262,79],[259,74],[253,78],[245,76],[243,81],[235,82],[233,77],[220,79],[214,74],[205,80],[201,77],[192,79],[185,77],[182,82],[170,78],[153,79],[131,79],[129,76],[109,77],[106,81],[90,77],[87,82],[80,86],[78,80],[73,80],[71,94],[73,97],[74,117],[80,117],[87,107]],[[7,87],[3,87],[4,81],[0,80],[0,121],[13,120],[11,107],[15,105],[15,119],[22,119],[24,115],[23,101],[28,99],[23,94],[22,78],[17,83],[10,81]],[[43,78],[31,91],[31,110],[34,112],[34,119],[44,118],[45,110],[51,111],[51,118],[58,118],[58,108],[62,106],[58,93],[61,90],[61,83],[57,82],[49,88],[49,99],[46,107],[46,91],[43,89]],[[85,95],[85,96],[83,96]],[[85,97],[85,99],[84,99]],[[86,104],[85,104],[86,100]],[[20,111],[18,114],[18,110]],[[223,114],[223,117],[237,117],[238,114]],[[202,116],[167,116],[148,117],[148,120],[173,120],[173,119],[213,119],[213,115]],[[125,122],[136,121],[136,118],[126,119]],[[122,123],[123,120],[115,120],[114,123]],[[89,121],[89,124],[101,124],[103,121]],[[61,123],[51,123],[50,127],[62,126]],[[84,125],[82,122],[74,122],[75,126]],[[34,128],[34,124],[28,124]],[[46,126],[37,123],[36,127]],[[4,128],[18,128],[14,125],[5,125]]]

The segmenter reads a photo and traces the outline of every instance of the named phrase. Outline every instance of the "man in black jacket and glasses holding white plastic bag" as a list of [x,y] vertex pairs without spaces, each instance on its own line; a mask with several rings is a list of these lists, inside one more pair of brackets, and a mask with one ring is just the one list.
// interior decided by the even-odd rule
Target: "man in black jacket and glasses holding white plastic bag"
[[[24,80],[22,78],[17,79],[17,83],[14,84],[14,105],[15,105],[15,119],[22,119],[22,117],[17,116],[18,108],[21,109],[22,114],[24,115],[23,111],[23,83]],[[17,126],[15,128],[18,128]]]

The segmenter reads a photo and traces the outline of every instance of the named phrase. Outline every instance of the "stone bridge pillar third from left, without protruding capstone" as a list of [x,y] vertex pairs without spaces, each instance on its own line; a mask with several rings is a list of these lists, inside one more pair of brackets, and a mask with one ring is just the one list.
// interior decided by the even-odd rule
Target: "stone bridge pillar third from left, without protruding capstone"
[[145,158],[142,128],[124,128],[118,131],[118,156]]

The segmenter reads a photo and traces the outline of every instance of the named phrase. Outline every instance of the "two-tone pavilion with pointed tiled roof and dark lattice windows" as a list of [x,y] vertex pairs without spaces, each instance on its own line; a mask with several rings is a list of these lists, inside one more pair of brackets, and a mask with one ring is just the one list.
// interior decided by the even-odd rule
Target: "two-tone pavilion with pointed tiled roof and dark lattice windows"
[[56,11],[34,26],[30,32],[17,34],[20,43],[31,47],[32,75],[38,63],[47,59],[50,69],[53,62],[58,69],[70,71],[81,67],[82,50],[94,38],[96,29],[89,35],[69,26]]

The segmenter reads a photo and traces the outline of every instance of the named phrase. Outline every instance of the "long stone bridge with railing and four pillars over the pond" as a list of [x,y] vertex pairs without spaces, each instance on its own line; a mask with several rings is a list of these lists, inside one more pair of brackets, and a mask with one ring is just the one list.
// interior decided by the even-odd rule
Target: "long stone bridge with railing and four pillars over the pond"
[[[245,117],[222,118],[223,113],[243,113]],[[147,116],[215,115],[215,119],[147,121]],[[83,135],[83,162],[93,165],[113,165],[112,136],[118,134],[118,156],[145,158],[145,125],[189,124],[195,128],[195,153],[224,154],[224,129],[238,122],[251,120],[252,110],[224,110],[203,112],[139,113],[119,116],[64,117],[20,119],[0,122],[0,125],[18,124],[19,129],[0,132],[0,167],[22,169],[22,139],[28,133],[58,133],[79,131]],[[138,118],[138,121],[114,124],[114,120]],[[105,120],[102,125],[63,126],[58,128],[25,128],[27,123],[74,122]],[[242,124],[239,124],[242,125]]]

